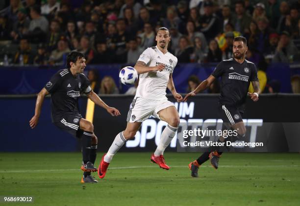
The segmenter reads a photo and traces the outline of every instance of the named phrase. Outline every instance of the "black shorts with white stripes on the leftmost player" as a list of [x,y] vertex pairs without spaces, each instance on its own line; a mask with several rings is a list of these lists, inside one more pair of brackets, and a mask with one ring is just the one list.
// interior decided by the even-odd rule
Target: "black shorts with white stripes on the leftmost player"
[[74,137],[81,137],[83,134],[83,130],[79,128],[79,122],[82,118],[81,115],[63,115],[59,122],[53,122],[55,126],[64,130]]

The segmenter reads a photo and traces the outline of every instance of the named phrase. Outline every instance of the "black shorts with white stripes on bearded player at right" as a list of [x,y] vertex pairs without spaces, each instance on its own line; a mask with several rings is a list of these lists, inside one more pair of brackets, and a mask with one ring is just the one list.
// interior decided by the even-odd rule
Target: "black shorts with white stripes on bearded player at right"
[[243,121],[243,112],[234,106],[220,105],[219,113],[223,122],[229,122],[231,125]]

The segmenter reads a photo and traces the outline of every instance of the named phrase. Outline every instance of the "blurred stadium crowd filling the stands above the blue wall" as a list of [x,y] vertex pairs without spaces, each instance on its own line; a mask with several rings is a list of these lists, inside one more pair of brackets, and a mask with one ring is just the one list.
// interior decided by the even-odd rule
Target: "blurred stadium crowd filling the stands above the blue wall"
[[229,59],[239,35],[261,70],[300,60],[300,0],[3,0],[0,60],[60,65],[79,51],[87,64],[134,64],[160,27],[181,63]]

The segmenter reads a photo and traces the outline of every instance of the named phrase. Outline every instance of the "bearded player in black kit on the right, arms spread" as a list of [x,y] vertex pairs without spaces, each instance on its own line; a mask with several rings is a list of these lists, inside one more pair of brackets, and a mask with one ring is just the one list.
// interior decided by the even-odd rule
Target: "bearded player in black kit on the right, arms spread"
[[[260,93],[257,78],[257,69],[254,63],[245,59],[248,50],[247,40],[243,36],[237,36],[233,40],[233,58],[221,61],[213,73],[192,92],[188,93],[183,101],[188,97],[195,96],[196,93],[209,88],[211,83],[221,77],[221,94],[219,99],[219,112],[223,120],[222,129],[233,129],[237,131],[237,137],[246,135],[246,127],[242,119],[245,110],[247,94],[256,102]],[[254,92],[248,92],[252,83]],[[219,137],[218,142],[224,143],[224,137]],[[198,177],[198,169],[201,164],[210,159],[211,165],[218,169],[219,158],[222,154],[220,147],[211,147],[211,150],[204,152],[197,160],[189,164],[192,177]]]

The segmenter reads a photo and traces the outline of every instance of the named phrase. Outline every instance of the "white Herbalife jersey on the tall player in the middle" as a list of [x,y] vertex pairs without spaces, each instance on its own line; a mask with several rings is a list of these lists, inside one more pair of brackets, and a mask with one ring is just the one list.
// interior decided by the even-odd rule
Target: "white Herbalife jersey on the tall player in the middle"
[[156,66],[165,64],[163,71],[147,72],[140,74],[139,86],[136,90],[136,97],[145,99],[162,100],[167,99],[166,89],[170,74],[177,64],[177,58],[170,52],[163,54],[157,46],[147,48],[138,61],[143,61],[146,66]]

